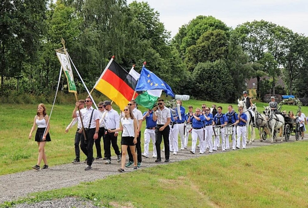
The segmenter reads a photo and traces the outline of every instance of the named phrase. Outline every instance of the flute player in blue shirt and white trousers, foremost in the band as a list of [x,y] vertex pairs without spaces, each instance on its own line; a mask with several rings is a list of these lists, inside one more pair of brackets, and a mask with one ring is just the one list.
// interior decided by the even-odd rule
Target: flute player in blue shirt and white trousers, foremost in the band
[[197,144],[197,137],[199,138],[199,145],[200,145],[200,154],[204,153],[204,120],[205,117],[200,115],[201,110],[200,108],[196,108],[196,113],[191,113],[188,117],[188,122],[193,123],[193,130],[192,130],[192,149],[189,152],[195,154],[196,144]]

